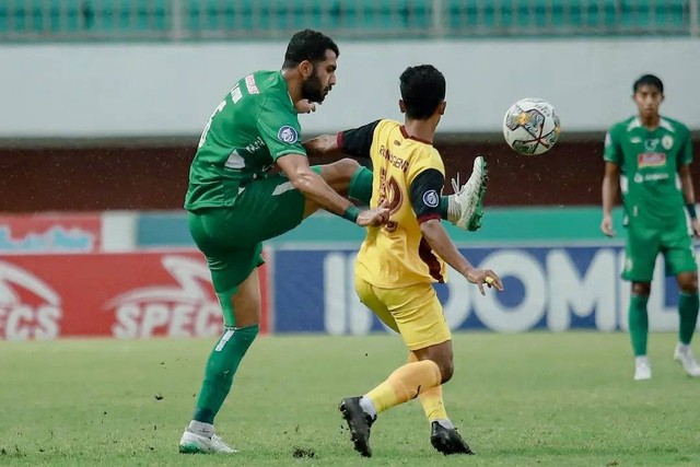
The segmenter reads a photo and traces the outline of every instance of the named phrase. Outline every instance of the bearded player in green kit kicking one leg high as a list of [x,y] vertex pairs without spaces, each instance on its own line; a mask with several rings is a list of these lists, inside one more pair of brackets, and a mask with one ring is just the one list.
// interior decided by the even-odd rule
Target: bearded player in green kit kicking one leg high
[[[192,420],[179,442],[183,453],[234,452],[214,433],[213,420],[258,332],[262,242],[294,229],[319,208],[360,226],[388,219],[384,207],[361,211],[346,198],[369,205],[369,170],[352,160],[310,167],[300,142],[298,109],[306,112],[310,102],[324,101],[336,83],[338,54],[322,33],[295,34],[282,70],[258,71],[237,81],[199,140],[185,209],[211,270],[224,332],[207,362]],[[281,172],[269,172],[273,165]],[[443,197],[443,217],[464,229],[478,229],[483,183],[467,182],[457,195]]]

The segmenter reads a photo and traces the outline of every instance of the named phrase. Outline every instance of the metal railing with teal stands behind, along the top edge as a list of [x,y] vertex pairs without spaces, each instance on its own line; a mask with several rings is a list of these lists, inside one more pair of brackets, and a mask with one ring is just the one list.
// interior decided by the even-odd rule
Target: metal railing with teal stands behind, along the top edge
[[700,36],[700,0],[0,0],[0,40]]

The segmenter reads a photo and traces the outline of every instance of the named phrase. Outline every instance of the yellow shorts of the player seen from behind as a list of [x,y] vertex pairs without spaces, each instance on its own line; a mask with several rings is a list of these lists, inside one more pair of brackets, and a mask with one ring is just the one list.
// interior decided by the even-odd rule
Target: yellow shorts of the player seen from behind
[[400,334],[410,350],[452,339],[442,305],[430,283],[380,289],[355,276],[354,288],[360,301],[385,325]]

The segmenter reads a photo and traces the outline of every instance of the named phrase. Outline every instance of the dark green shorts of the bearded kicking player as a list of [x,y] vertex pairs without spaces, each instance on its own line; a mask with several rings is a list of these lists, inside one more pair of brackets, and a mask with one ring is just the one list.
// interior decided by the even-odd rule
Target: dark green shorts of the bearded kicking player
[[248,183],[233,207],[189,212],[189,232],[207,257],[218,294],[235,293],[265,262],[262,242],[298,226],[304,218],[304,196],[289,178],[273,174]]

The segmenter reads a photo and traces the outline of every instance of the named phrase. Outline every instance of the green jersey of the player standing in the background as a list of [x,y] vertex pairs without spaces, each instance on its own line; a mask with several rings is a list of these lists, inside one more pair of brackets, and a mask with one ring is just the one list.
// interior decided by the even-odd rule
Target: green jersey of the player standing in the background
[[[623,174],[622,197],[630,218],[644,224],[685,223],[678,167],[692,161],[690,131],[679,121],[662,118],[649,130],[638,117],[614,125],[605,140],[605,160]],[[656,224],[657,225],[657,224]]]

